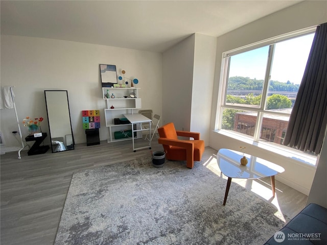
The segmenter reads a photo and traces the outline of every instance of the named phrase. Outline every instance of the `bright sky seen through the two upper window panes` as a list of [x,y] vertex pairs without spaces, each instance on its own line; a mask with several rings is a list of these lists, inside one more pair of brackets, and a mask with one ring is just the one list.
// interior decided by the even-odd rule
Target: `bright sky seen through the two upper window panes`
[[[314,34],[278,42],[275,45],[270,80],[300,84]],[[264,80],[269,46],[231,57],[229,77]]]

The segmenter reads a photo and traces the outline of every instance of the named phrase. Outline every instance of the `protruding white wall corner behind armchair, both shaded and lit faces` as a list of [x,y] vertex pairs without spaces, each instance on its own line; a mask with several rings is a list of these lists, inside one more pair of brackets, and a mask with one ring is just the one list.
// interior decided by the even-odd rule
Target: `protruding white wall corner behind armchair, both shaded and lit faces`
[[201,133],[209,144],[216,37],[193,34],[163,54],[164,123]]

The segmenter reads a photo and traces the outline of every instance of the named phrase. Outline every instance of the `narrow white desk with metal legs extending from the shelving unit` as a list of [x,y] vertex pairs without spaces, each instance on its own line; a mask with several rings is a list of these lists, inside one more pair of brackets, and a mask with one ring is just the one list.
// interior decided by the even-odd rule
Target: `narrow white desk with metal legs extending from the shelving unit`
[[[147,146],[135,148],[135,144],[134,144],[134,132],[149,131],[149,135],[150,135],[150,138],[151,138],[151,121],[152,120],[150,118],[142,115],[142,114],[139,114],[139,113],[135,113],[135,114],[124,114],[124,116],[132,124],[133,151],[136,152],[136,150],[141,150],[141,149],[146,149],[146,148],[151,149],[151,141],[150,141],[149,145],[147,145]],[[144,123],[149,123],[149,128],[148,129],[143,129],[142,128],[142,124],[144,124]],[[134,125],[137,125],[137,124],[140,125],[139,126],[140,128],[137,129],[137,126],[136,126],[136,129],[134,129]]]

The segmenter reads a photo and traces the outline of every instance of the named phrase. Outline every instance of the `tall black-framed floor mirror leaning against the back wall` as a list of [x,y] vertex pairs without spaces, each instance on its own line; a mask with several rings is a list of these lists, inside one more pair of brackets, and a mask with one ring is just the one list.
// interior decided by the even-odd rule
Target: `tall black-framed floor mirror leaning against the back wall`
[[52,152],[74,150],[67,90],[44,90]]

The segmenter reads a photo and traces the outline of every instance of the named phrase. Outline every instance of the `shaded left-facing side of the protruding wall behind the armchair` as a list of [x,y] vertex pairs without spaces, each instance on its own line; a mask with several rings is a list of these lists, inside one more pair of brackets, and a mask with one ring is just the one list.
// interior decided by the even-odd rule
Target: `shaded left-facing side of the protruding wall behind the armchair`
[[195,34],[162,55],[162,124],[189,131],[193,86]]

